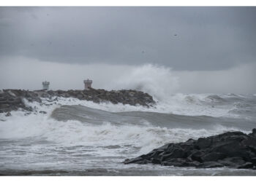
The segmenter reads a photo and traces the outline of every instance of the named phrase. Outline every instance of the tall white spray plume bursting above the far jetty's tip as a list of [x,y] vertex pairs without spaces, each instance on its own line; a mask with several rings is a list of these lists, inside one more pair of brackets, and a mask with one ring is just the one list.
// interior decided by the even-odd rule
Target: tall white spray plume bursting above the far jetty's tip
[[178,89],[178,78],[173,76],[169,67],[146,64],[119,76],[113,88],[140,90],[157,100],[165,100]]

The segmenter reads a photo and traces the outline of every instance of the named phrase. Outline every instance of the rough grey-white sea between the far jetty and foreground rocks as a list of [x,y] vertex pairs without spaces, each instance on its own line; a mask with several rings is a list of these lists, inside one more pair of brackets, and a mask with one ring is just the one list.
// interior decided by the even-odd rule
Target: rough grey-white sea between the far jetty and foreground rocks
[[175,93],[154,100],[150,108],[76,98],[24,100],[31,114],[0,114],[0,175],[256,175],[227,167],[124,165],[165,143],[256,127],[256,95]]

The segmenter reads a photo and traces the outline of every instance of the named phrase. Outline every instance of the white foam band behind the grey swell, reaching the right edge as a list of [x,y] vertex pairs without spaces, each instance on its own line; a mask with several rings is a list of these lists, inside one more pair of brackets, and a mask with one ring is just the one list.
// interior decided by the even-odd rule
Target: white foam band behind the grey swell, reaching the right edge
[[[235,98],[236,100],[233,100]],[[94,103],[87,100],[78,100],[77,98],[57,98],[57,101],[50,102],[45,98],[42,98],[42,103],[33,102],[30,103],[26,99],[24,102],[27,106],[31,106],[36,111],[47,111],[50,114],[54,108],[63,105],[81,105],[90,108],[97,108],[103,111],[110,112],[124,112],[124,111],[149,111],[166,114],[180,114],[185,116],[225,116],[225,117],[241,117],[239,112],[233,112],[235,110],[243,111],[244,106],[248,104],[241,102],[239,99],[246,98],[246,95],[213,95],[213,94],[173,94],[167,99],[157,101],[154,107],[146,108],[145,106],[130,106],[128,104],[113,104],[113,103]],[[231,100],[231,101],[228,101]],[[233,101],[232,101],[233,100]],[[252,103],[252,106],[255,106]],[[52,105],[49,105],[52,104]],[[250,109],[250,108],[248,108]],[[252,111],[253,112],[253,111]],[[11,114],[23,116],[22,111],[12,111]],[[4,113],[0,114],[1,120],[8,119],[4,116]],[[242,116],[244,117],[244,116]],[[248,117],[249,118],[249,117]],[[9,120],[9,119],[8,119]]]

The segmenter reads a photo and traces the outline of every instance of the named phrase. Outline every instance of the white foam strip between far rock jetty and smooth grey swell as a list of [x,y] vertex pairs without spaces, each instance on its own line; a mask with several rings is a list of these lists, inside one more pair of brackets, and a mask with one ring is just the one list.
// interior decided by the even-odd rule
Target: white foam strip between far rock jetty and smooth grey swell
[[[131,106],[128,104],[113,104],[113,103],[94,103],[87,100],[78,100],[76,98],[58,98],[57,103],[53,106],[39,106],[39,103],[27,103],[33,108],[39,108],[43,111],[52,111],[53,108],[62,105],[81,105],[90,108],[97,108],[103,111],[124,112],[124,111],[150,111],[167,114],[180,114],[186,116],[229,116],[237,117],[237,114],[230,114],[234,106],[232,104],[217,105],[214,100],[209,100],[210,94],[173,94],[169,98],[162,101],[157,101],[157,105],[152,108],[145,106]],[[46,99],[44,103],[49,103]]]

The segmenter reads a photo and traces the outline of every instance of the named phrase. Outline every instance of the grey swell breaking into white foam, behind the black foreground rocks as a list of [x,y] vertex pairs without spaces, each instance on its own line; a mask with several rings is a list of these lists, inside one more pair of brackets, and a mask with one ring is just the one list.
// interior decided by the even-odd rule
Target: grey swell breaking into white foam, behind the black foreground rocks
[[[61,146],[91,146],[93,154],[115,156],[121,151],[132,155],[143,154],[168,142],[187,141],[189,138],[243,128],[239,129],[242,125],[236,123],[238,121],[214,124],[217,119],[205,116],[189,119],[188,116],[157,114],[153,117],[154,113],[110,113],[84,106],[75,107],[73,110],[74,106],[61,106],[48,115],[21,116],[21,113],[12,113],[8,121],[0,122],[0,138],[37,138]],[[246,131],[244,129],[242,131]],[[250,126],[247,129],[249,132]],[[98,149],[102,147],[107,149]]]

